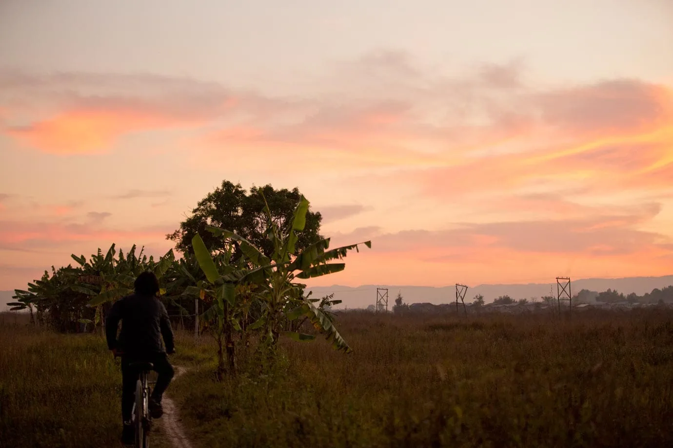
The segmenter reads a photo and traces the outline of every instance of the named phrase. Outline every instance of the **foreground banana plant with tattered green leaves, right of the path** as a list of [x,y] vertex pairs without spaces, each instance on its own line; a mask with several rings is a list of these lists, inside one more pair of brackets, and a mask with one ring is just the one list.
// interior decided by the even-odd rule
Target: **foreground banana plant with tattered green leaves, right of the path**
[[[232,270],[225,275],[220,275],[210,251],[205,247],[199,234],[192,239],[192,247],[194,247],[194,254],[199,260],[201,269],[212,284],[252,284],[258,287],[256,296],[263,304],[262,315],[249,328],[263,328],[263,338],[267,347],[273,348],[281,334],[296,341],[315,339],[311,334],[281,330],[283,318],[297,320],[306,317],[312,322],[316,330],[325,334],[325,338],[331,341],[334,349],[349,353],[352,351],[351,347],[336,330],[332,320],[316,308],[314,302],[303,296],[304,285],[295,283],[294,280],[343,271],[345,263],[328,262],[343,259],[347,252],[353,249],[359,252],[360,244],[371,248],[371,241],[328,250],[330,238],[324,238],[295,255],[297,233],[304,230],[306,226],[306,214],[309,206],[309,201],[302,196],[295,207],[292,219],[289,220],[285,228],[279,228],[274,222],[268,204],[264,208],[264,212],[267,214],[267,236],[273,242],[271,257],[264,255],[262,251],[235,232],[207,226],[207,230],[213,234],[223,236],[232,243],[236,242],[253,269]],[[234,287],[223,288],[223,294],[229,294],[226,297],[235,302]]]

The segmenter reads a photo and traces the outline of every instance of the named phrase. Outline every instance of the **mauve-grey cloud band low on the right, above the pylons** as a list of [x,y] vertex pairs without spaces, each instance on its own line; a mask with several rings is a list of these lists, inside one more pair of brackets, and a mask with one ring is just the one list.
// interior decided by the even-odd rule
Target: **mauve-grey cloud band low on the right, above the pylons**
[[[578,209],[581,209],[578,206]],[[544,255],[619,255],[627,257],[642,249],[670,250],[673,237],[638,230],[637,226],[651,220],[660,212],[659,204],[641,208],[623,208],[571,218],[513,220],[487,223],[450,223],[446,230],[402,230],[386,233],[369,228],[356,229],[340,239],[372,238],[378,253],[415,253],[416,257],[448,261],[455,251],[470,249],[461,259],[485,259],[489,251],[507,249],[521,253]],[[378,230],[378,231],[377,231]],[[374,232],[374,233],[373,233]],[[444,254],[444,255],[443,255]],[[413,256],[413,255],[412,255]],[[457,261],[456,261],[457,262]]]

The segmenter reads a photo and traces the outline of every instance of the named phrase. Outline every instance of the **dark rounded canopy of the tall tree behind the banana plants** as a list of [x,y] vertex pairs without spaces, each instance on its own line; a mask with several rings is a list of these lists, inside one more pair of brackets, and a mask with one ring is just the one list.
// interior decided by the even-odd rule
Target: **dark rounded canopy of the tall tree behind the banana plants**
[[[222,185],[199,201],[192,215],[180,223],[180,228],[166,239],[173,240],[176,249],[182,253],[192,252],[192,238],[201,235],[208,249],[221,251],[225,248],[225,238],[206,230],[206,226],[215,226],[231,230],[242,236],[264,255],[271,257],[273,242],[267,237],[267,215],[264,213],[264,199],[269,204],[269,212],[278,226],[285,228],[291,221],[297,201],[302,193],[296,187],[292,190],[274,189],[271,184],[263,187],[251,187],[248,193],[240,183],[234,185],[223,181]],[[310,244],[324,238],[320,235],[320,212],[308,211],[306,227],[297,234],[297,250],[301,252]],[[237,245],[234,242],[234,245]],[[237,247],[235,257],[240,257]]]

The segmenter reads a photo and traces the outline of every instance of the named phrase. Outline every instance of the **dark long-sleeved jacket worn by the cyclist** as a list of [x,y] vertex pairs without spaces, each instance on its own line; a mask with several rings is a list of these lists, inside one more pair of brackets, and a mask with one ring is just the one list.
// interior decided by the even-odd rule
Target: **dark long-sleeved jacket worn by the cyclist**
[[[117,324],[122,329],[117,340]],[[162,302],[153,296],[131,294],[114,302],[105,322],[108,349],[118,349],[130,357],[166,353],[174,349],[173,330],[168,312]]]

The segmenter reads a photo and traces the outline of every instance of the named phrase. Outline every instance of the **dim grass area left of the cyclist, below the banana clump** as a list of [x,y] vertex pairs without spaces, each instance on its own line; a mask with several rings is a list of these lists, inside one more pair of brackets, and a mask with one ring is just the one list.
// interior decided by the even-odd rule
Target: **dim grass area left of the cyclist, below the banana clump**
[[0,314],[0,445],[118,447],[119,361],[101,337]]

